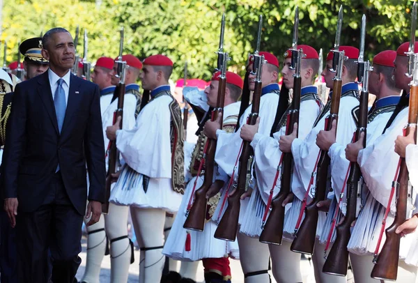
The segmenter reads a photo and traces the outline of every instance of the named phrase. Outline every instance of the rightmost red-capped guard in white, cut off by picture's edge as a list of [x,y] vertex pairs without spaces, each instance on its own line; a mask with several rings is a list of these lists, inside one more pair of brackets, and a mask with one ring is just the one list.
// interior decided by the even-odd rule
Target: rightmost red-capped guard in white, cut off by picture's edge
[[[395,190],[392,184],[396,181],[396,171],[399,160],[399,155],[394,151],[394,142],[398,135],[403,135],[403,128],[405,128],[408,121],[408,94],[411,77],[407,77],[405,74],[408,73],[407,54],[409,45],[410,43],[403,43],[396,50],[393,72],[394,83],[396,88],[403,90],[403,95],[383,129],[384,134],[378,135],[379,133],[376,132],[378,136],[371,144],[366,146],[366,148],[359,150],[359,148],[362,148],[362,145],[353,144],[353,148],[349,147],[350,151],[348,151],[348,153],[350,153],[348,158],[354,160],[355,155],[353,155],[351,151],[355,152],[359,150],[357,162],[360,165],[364,182],[369,190],[369,197],[366,199],[367,202],[363,208],[362,215],[360,215],[363,216],[364,214],[364,217],[367,218],[366,220],[363,220],[363,217],[359,217],[357,220],[353,236],[355,235],[359,238],[352,238],[350,240],[349,249],[350,252],[355,252],[356,254],[359,254],[361,251],[365,254],[363,257],[368,258],[369,260],[373,259],[371,256],[367,256],[367,254],[374,253],[376,256],[382,247],[380,242],[385,243],[385,234],[381,234],[380,236],[382,222],[386,222],[386,227],[389,227],[396,215],[395,197],[390,197],[391,192]],[[415,50],[418,50],[418,43],[415,43]],[[378,102],[376,102],[376,106],[377,103]],[[369,138],[369,135],[367,138]],[[412,176],[412,174],[410,174],[410,176]],[[408,206],[406,209],[407,217],[410,217],[410,214],[412,213],[415,195],[416,191],[414,190],[414,192],[410,192],[410,197],[408,197]],[[371,204],[369,204],[369,202]],[[371,207],[371,205],[373,205],[373,207]],[[365,221],[366,223],[364,223]],[[358,228],[357,225],[359,225]],[[364,229],[368,229],[368,234],[366,234],[366,231],[357,231],[362,225],[364,225]],[[364,236],[362,237],[363,232]],[[415,247],[417,237],[418,232],[415,231],[414,233],[401,238],[398,254],[397,282],[415,282],[417,277],[418,257],[416,256],[415,249],[412,247]],[[353,258],[358,259],[359,257]],[[365,263],[363,258],[359,260],[363,262],[359,263],[362,264],[363,268],[360,269],[361,271],[359,274],[370,274],[373,264]]]

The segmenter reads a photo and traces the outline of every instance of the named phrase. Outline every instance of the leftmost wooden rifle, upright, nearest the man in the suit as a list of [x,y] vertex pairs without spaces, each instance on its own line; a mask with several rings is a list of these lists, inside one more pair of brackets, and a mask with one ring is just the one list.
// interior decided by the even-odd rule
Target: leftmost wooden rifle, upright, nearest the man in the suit
[[[120,116],[121,117],[121,128],[123,125],[123,98],[125,96],[125,84],[119,84],[115,91],[118,91],[118,109],[115,112],[115,121]],[[116,140],[110,141],[109,149],[109,168],[106,175],[106,184],[104,187],[104,203],[102,204],[102,213],[109,213],[109,197],[112,181],[111,174],[116,173],[117,164],[118,164],[118,148],[116,148]]]

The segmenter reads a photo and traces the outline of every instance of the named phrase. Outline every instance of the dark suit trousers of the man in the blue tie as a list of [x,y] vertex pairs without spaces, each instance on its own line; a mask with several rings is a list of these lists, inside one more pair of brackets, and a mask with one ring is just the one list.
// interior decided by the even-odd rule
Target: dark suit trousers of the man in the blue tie
[[56,173],[42,206],[32,213],[17,213],[19,282],[49,281],[49,250],[52,282],[72,283],[82,262],[78,256],[82,222],[83,215],[77,213],[65,192],[61,172]]

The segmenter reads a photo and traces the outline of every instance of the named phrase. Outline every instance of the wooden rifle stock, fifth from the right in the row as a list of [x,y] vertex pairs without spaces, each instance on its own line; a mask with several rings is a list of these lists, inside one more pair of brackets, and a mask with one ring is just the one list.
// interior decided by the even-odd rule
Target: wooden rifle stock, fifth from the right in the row
[[[254,98],[251,106],[251,114],[247,123],[254,125],[260,109],[261,82],[256,82],[254,89]],[[235,192],[228,198],[228,207],[215,231],[215,238],[221,240],[235,240],[238,231],[238,217],[240,216],[240,197],[245,193],[247,186],[247,168],[250,156],[253,155],[250,143],[244,141],[242,144],[242,153],[240,156],[240,165],[238,167],[238,184]]]

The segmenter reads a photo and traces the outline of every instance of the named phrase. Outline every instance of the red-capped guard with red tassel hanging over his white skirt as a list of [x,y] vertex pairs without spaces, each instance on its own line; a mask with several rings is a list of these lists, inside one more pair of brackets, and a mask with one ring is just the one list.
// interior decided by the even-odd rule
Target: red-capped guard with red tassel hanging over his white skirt
[[[212,108],[217,107],[220,75],[221,72],[215,72],[210,85],[205,89],[208,105]],[[222,115],[222,129],[226,132],[233,132],[238,122],[240,102],[237,102],[237,100],[240,98],[243,84],[244,82],[239,75],[234,72],[226,72],[225,102]],[[163,253],[173,259],[183,261],[199,261],[202,259],[203,267],[205,268],[205,282],[229,282],[231,280],[231,269],[229,268],[228,255],[231,254],[232,257],[237,257],[238,245],[233,245],[231,242],[213,237],[217,225],[212,220],[212,215],[218,205],[220,193],[208,199],[208,206],[206,208],[208,213],[206,214],[206,223],[203,231],[193,231],[183,228],[187,213],[189,213],[189,209],[192,206],[194,192],[203,185],[203,172],[205,168],[201,167],[199,171],[199,165],[203,162],[202,158],[206,142],[207,138],[203,134],[203,131],[201,131],[189,167],[193,178],[186,187],[186,193],[180,205],[176,220],[173,223],[169,238],[164,245]],[[220,182],[221,184],[219,185],[221,187],[225,183],[228,183],[224,181]],[[218,185],[217,183],[219,181],[215,182],[216,185]]]

